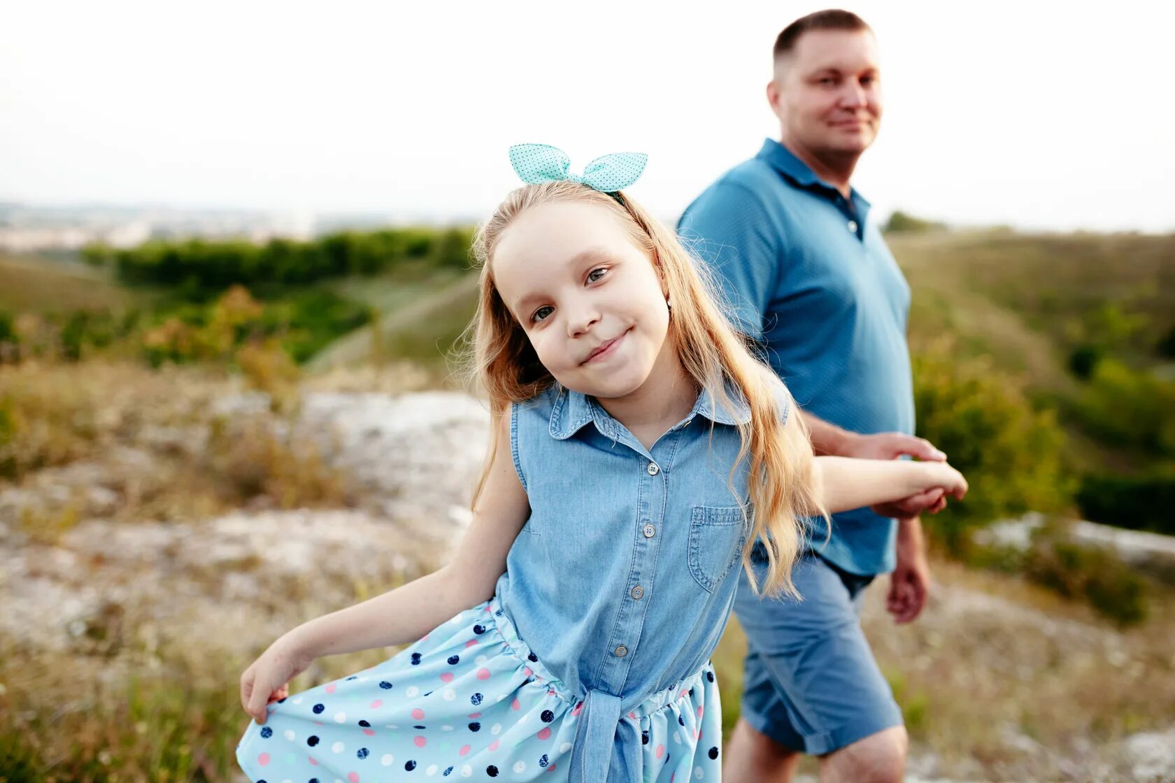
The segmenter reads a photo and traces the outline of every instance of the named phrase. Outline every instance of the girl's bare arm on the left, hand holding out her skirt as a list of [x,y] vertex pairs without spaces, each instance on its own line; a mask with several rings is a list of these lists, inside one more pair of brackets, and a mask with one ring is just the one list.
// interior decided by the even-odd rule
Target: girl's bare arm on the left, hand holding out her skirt
[[241,703],[258,723],[266,704],[288,693],[289,681],[314,659],[414,642],[458,613],[494,595],[506,553],[526,524],[530,502],[510,453],[509,411],[498,423],[490,471],[474,519],[454,559],[402,587],[307,621],[280,636],[241,675]]

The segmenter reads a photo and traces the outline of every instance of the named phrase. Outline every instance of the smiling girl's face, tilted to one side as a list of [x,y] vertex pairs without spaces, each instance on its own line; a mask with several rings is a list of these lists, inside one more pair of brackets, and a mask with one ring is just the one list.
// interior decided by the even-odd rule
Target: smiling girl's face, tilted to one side
[[657,270],[598,204],[524,211],[502,232],[491,271],[539,362],[568,389],[624,397],[677,360]]

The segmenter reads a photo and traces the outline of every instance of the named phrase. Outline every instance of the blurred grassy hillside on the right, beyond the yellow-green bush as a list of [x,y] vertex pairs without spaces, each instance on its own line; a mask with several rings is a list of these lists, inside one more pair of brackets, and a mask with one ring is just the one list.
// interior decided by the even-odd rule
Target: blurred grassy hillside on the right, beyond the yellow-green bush
[[[1089,387],[1073,363],[1093,351],[1170,377],[1163,343],[1175,330],[1175,236],[942,231],[888,239],[913,291],[914,352],[947,336],[960,358],[989,356],[994,369],[1023,378],[1032,397],[1061,411],[1080,470],[1153,461],[1147,450],[1092,437],[1081,420]],[[1120,401],[1109,416],[1141,416]]]

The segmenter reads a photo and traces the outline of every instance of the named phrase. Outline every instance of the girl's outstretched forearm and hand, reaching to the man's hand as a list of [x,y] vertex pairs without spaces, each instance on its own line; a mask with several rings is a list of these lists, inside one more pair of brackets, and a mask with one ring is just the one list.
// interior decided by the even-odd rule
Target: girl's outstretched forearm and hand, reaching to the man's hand
[[959,499],[967,494],[967,480],[946,463],[905,459],[817,457],[812,460],[812,484],[830,514],[901,500],[935,487]]

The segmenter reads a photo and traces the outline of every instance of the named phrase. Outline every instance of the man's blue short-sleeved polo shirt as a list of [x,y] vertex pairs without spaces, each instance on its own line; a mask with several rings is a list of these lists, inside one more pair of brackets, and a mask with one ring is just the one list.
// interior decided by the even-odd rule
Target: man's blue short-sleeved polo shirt
[[[710,262],[736,326],[800,407],[860,433],[914,432],[909,286],[855,190],[845,198],[778,141],[726,171],[678,221]],[[893,520],[858,508],[813,520],[811,546],[854,574],[894,568]]]

